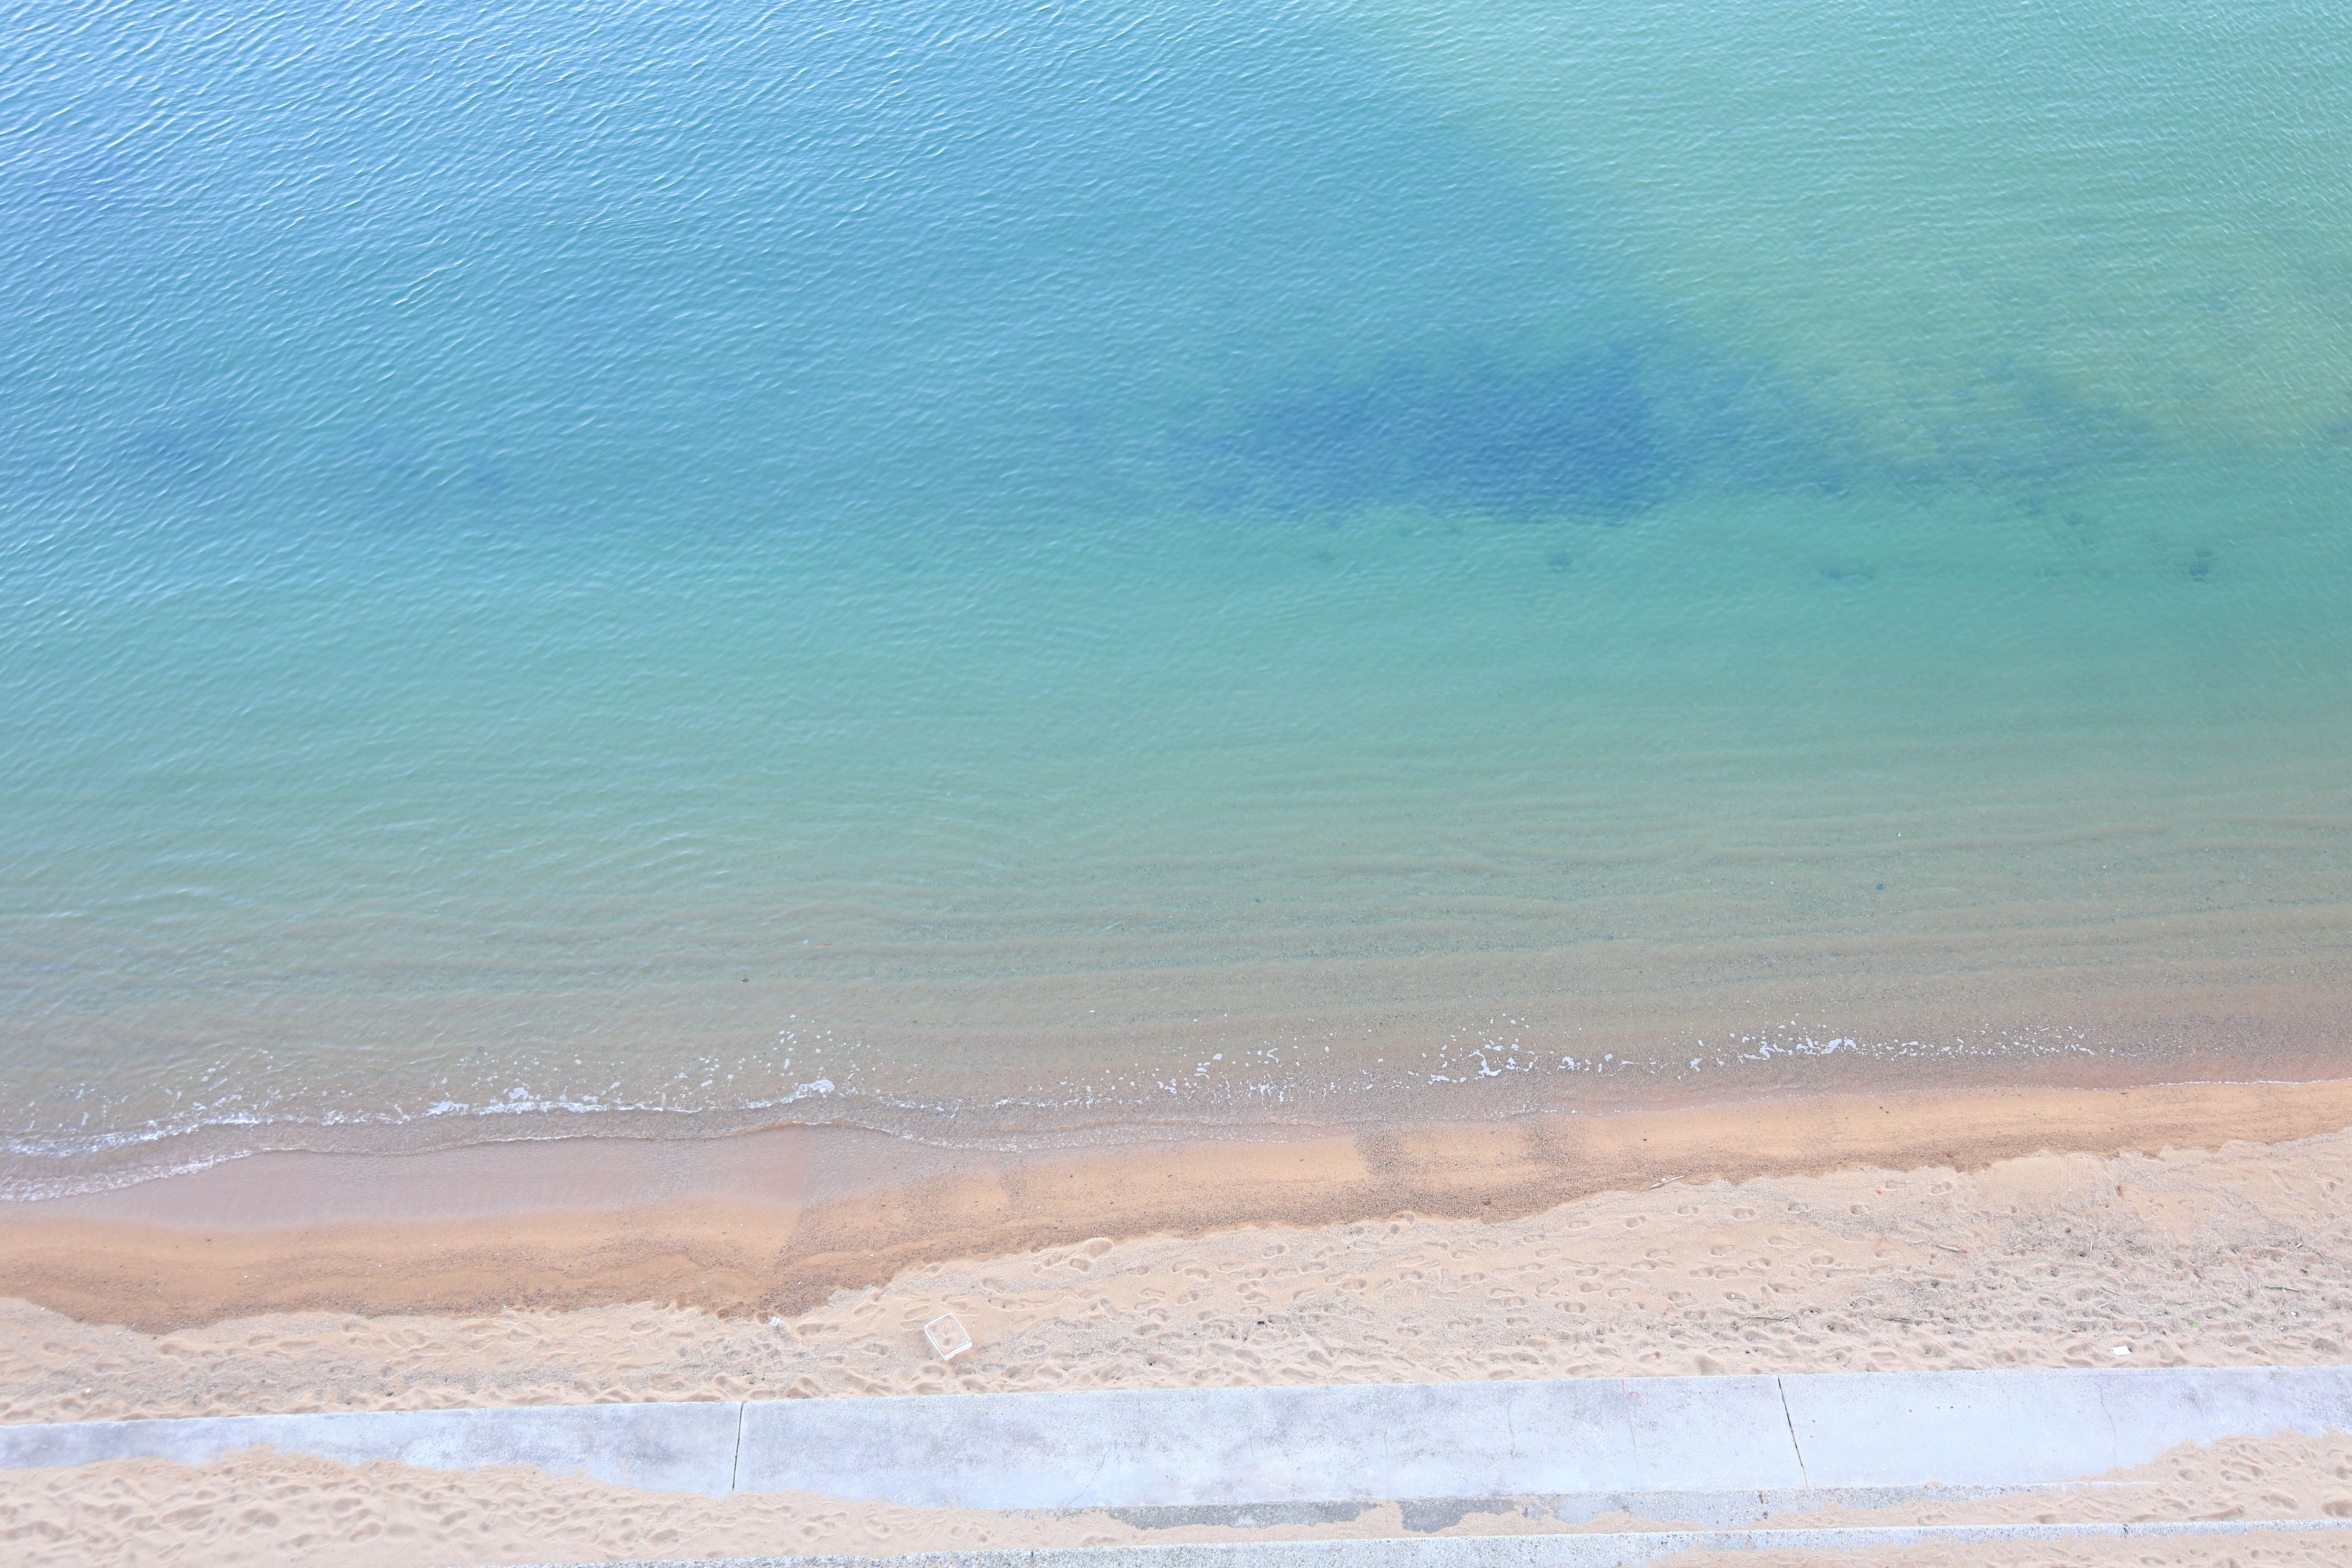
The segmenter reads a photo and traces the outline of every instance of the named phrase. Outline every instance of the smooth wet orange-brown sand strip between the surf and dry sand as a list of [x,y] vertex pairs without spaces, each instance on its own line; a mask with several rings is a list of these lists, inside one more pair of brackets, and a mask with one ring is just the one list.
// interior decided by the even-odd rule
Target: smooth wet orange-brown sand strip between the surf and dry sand
[[635,1302],[795,1316],[908,1269],[1051,1246],[1399,1213],[1515,1220],[1665,1182],[1983,1171],[2042,1152],[2272,1145],[2347,1126],[2352,1081],[2331,1079],[1809,1095],[1025,1161],[849,1128],[254,1154],[0,1206],[0,1295],[141,1333]]

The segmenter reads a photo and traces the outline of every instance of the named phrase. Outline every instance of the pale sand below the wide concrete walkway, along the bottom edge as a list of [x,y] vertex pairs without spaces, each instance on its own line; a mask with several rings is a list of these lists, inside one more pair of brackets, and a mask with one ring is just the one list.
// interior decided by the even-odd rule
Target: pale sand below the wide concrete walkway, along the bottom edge
[[[1875,1512],[1780,1514],[1778,1526],[2032,1523],[2129,1519],[2340,1519],[2352,1514],[2352,1436],[2183,1443],[2110,1486]],[[1538,1502],[1470,1514],[1435,1535],[1691,1528],[1670,1519],[1562,1526]],[[1185,1544],[1404,1535],[1397,1505],[1324,1526],[1138,1528],[1108,1514],[981,1514],[856,1505],[809,1493],[708,1500],[640,1493],[532,1469],[433,1472],[332,1465],[256,1448],[216,1465],[120,1460],[0,1474],[0,1554],[12,1563],[303,1563],[346,1568],[475,1568],[492,1563],[630,1561],[755,1554],[953,1552],[962,1547]],[[2274,1542],[2274,1544],[2272,1544]],[[2176,1554],[2180,1549],[2192,1554]],[[1677,1561],[1799,1561],[1792,1554],[1696,1554]],[[1806,1559],[1818,1561],[1818,1559]],[[2067,1542],[1856,1554],[1858,1563],[2213,1563],[2352,1561],[2352,1537],[2218,1542]]]

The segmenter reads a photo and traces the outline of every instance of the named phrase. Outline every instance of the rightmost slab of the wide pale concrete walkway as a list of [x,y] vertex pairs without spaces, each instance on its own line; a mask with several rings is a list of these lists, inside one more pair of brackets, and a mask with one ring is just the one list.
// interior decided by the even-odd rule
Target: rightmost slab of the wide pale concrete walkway
[[2145,1465],[2176,1443],[2352,1432],[2352,1368],[1783,1378],[1811,1486],[1997,1486]]

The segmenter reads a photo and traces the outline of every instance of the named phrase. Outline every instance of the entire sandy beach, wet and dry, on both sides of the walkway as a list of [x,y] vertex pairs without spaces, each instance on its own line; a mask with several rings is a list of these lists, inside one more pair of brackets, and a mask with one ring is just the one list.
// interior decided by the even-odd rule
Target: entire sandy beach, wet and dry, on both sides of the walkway
[[[54,1215],[5,1232],[16,1300],[0,1309],[0,1418],[2338,1363],[2352,1328],[2347,1126],[2345,1084],[2034,1091],[1129,1152],[800,1206],[209,1239]],[[358,1204],[332,1182],[299,1201]],[[920,1340],[943,1309],[976,1340],[953,1368]],[[2343,1441],[2183,1453],[2138,1476],[2145,1490],[2100,1493],[2100,1509],[2126,1512],[2063,1516],[2345,1512]],[[517,1563],[1138,1537],[1101,1516],[706,1502],[270,1453],[21,1472],[0,1495],[0,1540],[24,1561],[259,1563],[332,1544],[353,1563]],[[2018,1507],[1938,1516],[2039,1516]],[[1374,1509],[1322,1528],[1397,1523]],[[2246,1542],[2241,1559],[2338,1561],[2274,1544],[2263,1556],[2272,1547]],[[2107,1547],[2124,1542],[2030,1561],[2197,1561]]]

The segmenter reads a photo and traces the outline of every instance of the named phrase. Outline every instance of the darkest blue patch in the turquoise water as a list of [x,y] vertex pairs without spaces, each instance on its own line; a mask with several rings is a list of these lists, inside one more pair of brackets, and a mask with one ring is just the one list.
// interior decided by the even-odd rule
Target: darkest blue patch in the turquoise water
[[1536,364],[1399,355],[1367,376],[1301,378],[1195,449],[1216,496],[1284,510],[1623,520],[1668,480],[1642,362],[1623,343]]

